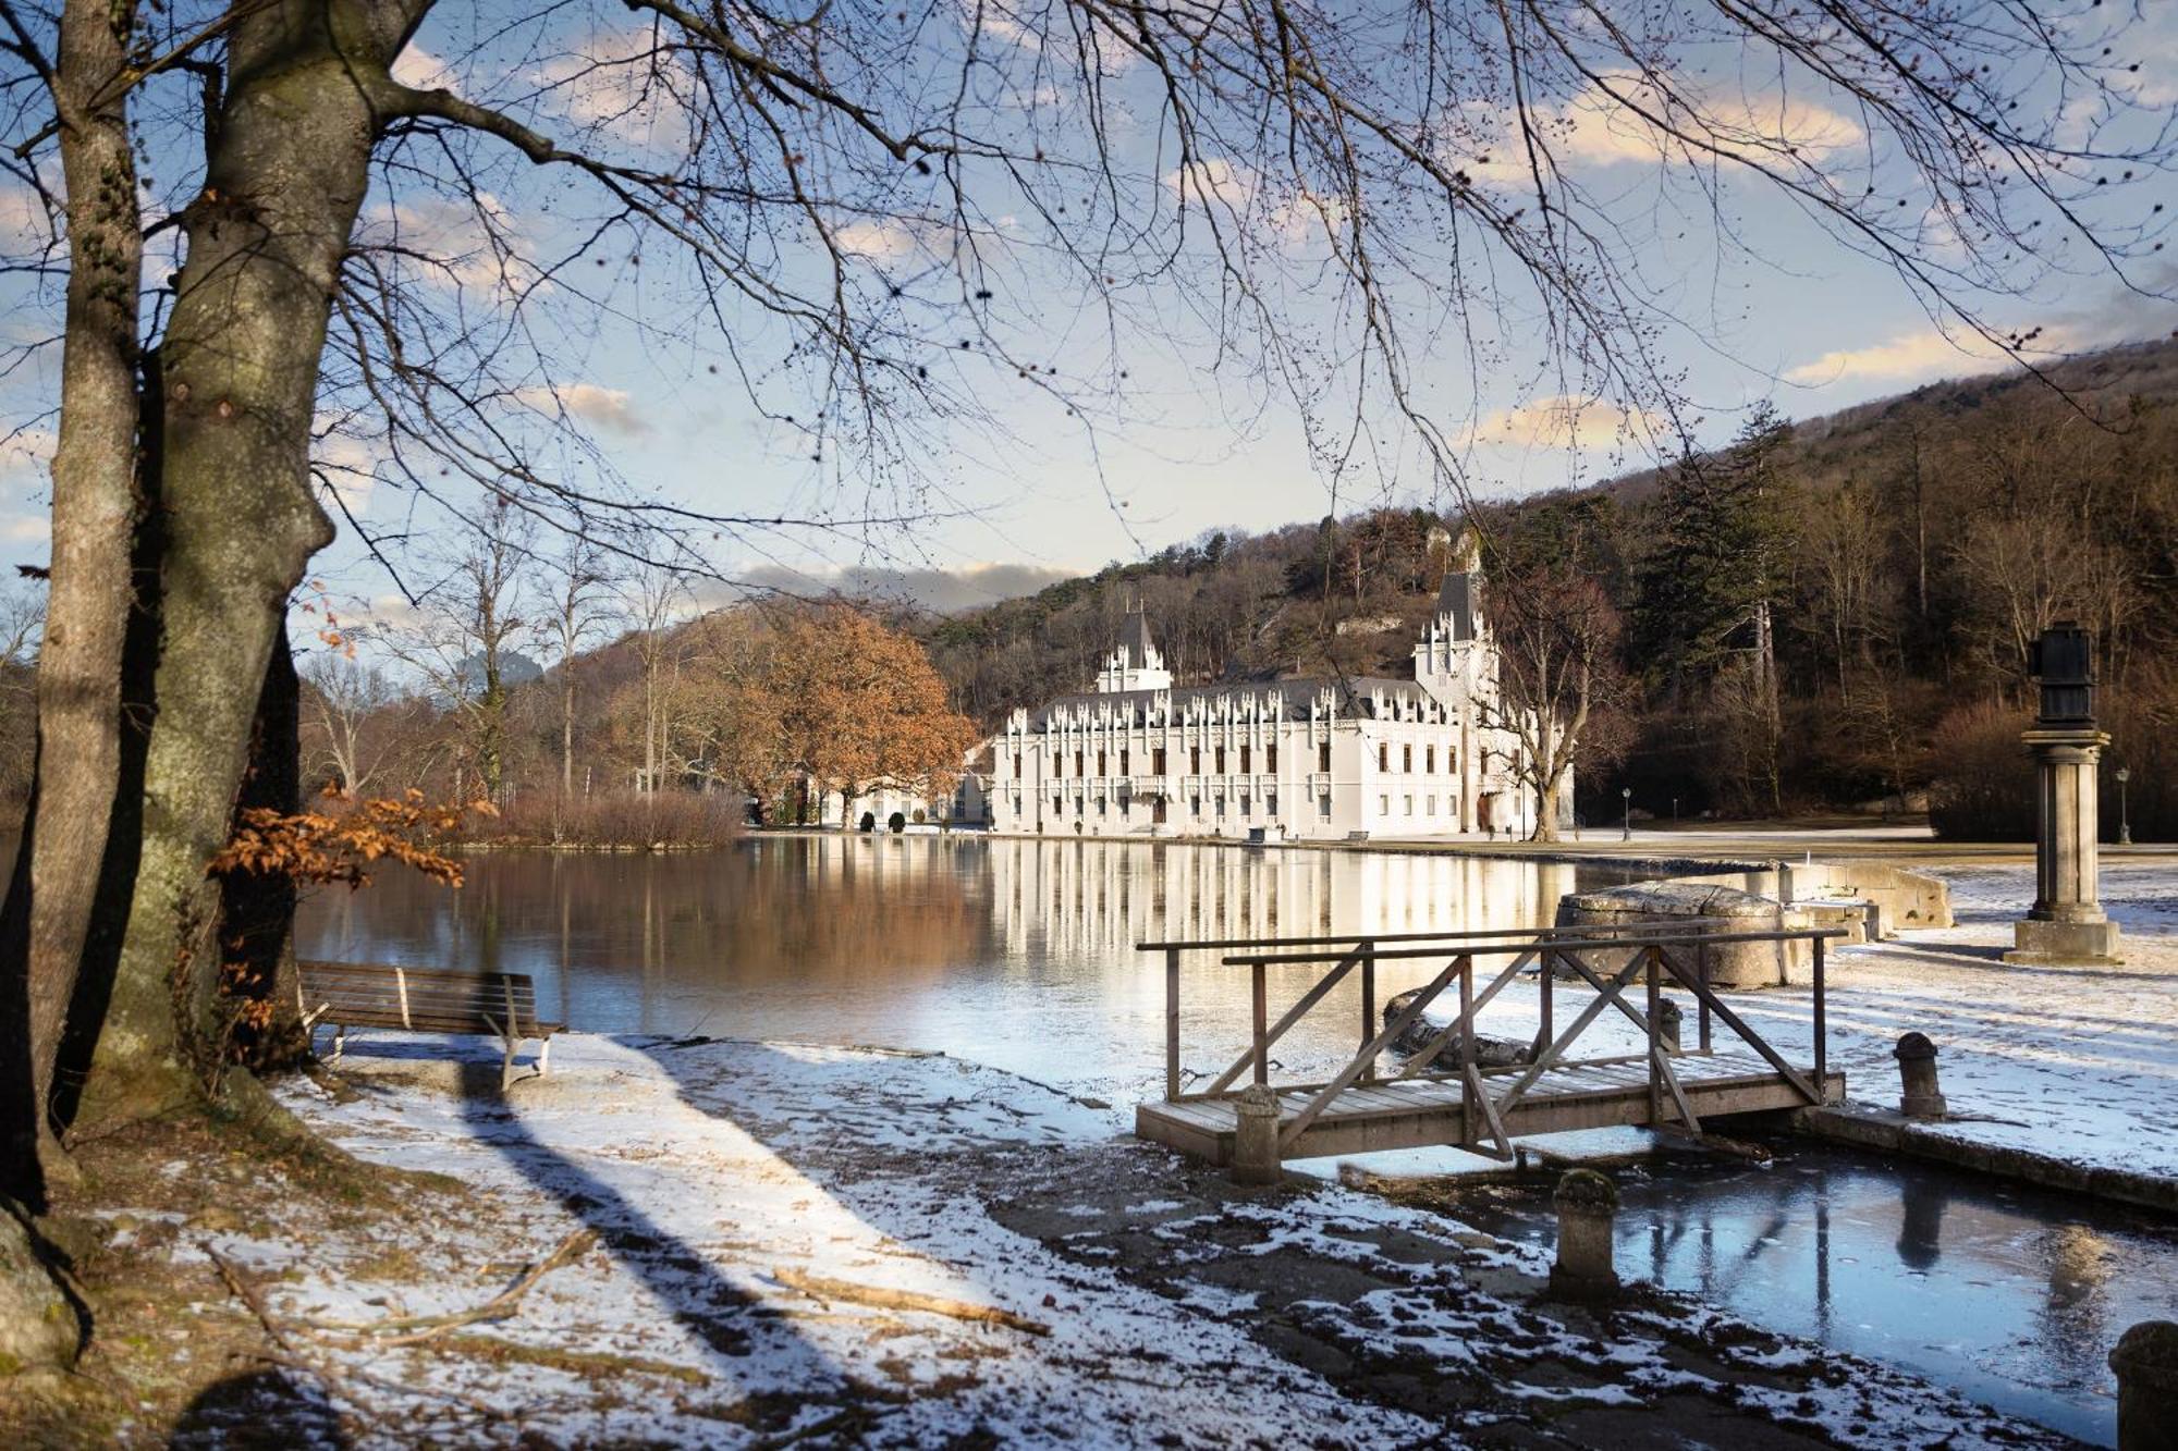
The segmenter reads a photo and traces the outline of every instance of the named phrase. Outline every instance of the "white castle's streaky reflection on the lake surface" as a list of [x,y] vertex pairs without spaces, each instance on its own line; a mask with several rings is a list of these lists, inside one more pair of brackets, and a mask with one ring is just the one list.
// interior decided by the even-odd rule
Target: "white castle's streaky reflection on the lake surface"
[[1011,956],[1128,961],[1159,939],[1540,926],[1573,891],[1573,867],[1483,856],[1122,841],[991,841],[989,856],[991,917]]

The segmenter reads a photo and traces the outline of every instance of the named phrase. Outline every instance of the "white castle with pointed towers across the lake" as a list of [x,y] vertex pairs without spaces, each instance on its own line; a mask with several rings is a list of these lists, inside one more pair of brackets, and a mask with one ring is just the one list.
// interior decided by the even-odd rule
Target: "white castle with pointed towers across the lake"
[[[1067,837],[1455,837],[1535,824],[1498,710],[1472,540],[1414,647],[1414,680],[1174,686],[1135,612],[1096,691],[1015,710],[991,830]],[[1566,780],[1564,810],[1573,780]]]

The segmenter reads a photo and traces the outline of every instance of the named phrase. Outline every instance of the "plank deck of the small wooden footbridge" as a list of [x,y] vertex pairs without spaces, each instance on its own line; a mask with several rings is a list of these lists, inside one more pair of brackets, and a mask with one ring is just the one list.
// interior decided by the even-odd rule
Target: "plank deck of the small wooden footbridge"
[[[1673,1074],[1697,1118],[1806,1107],[1806,1098],[1755,1052],[1688,1052],[1671,1059]],[[1520,1070],[1483,1074],[1498,1096]],[[1814,1070],[1801,1068],[1814,1081]],[[1320,1087],[1320,1085],[1318,1085]],[[1281,1087],[1281,1124],[1294,1122],[1318,1087]],[[1823,1100],[1845,1098],[1845,1074],[1823,1074]],[[1211,1163],[1233,1161],[1237,1096],[1178,1098],[1135,1109],[1135,1133]],[[1355,1155],[1381,1148],[1461,1144],[1468,1124],[1457,1078],[1368,1081],[1344,1089],[1300,1137],[1283,1148],[1287,1159]],[[1477,1124],[1481,1113],[1475,1115]],[[1664,1096],[1664,1122],[1677,1107]],[[1505,1115],[1507,1137],[1651,1124],[1649,1070],[1642,1057],[1559,1063]]]

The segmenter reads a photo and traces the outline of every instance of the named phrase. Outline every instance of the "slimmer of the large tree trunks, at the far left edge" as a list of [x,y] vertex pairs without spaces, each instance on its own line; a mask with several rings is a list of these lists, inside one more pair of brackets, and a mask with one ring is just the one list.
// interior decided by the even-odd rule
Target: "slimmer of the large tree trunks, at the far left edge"
[[52,588],[37,669],[37,780],[0,922],[0,1041],[9,1054],[0,1155],[26,1181],[9,1187],[33,1203],[41,1194],[37,1166],[61,1168],[48,1111],[54,1059],[120,778],[144,240],[126,92],[111,81],[124,68],[133,28],[129,2],[70,0],[54,57],[70,272],[52,460]]

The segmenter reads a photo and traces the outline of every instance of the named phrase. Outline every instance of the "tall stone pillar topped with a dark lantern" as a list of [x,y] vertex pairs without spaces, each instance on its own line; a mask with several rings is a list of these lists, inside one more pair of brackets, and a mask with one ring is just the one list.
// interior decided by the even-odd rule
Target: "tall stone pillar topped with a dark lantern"
[[2117,965],[2117,924],[2097,900],[2095,767],[2110,736],[2095,728],[2095,641],[2078,625],[2052,625],[2032,669],[2041,715],[2021,739],[2034,756],[2034,909],[2004,961]]

